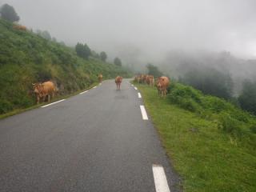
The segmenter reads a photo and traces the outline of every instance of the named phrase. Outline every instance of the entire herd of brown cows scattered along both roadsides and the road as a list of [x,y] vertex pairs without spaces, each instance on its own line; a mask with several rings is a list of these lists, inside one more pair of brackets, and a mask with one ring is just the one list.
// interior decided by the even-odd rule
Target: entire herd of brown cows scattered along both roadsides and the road
[[[98,74],[98,82],[102,82],[103,75]],[[169,78],[167,77],[160,77],[156,81],[154,80],[153,75],[147,75],[147,74],[139,74],[134,78],[135,82],[138,83],[145,83],[149,86],[155,86],[158,88],[158,94],[161,96],[165,96],[167,93],[167,88],[169,86]],[[120,86],[122,83],[122,77],[118,76],[114,79],[114,82],[117,85],[117,90],[120,90]],[[33,90],[34,94],[37,98],[37,103],[40,101],[45,102],[46,97],[48,102],[50,102],[50,97],[54,98],[54,94],[57,91],[57,86],[55,86],[54,82],[42,82],[42,83],[33,83]]]

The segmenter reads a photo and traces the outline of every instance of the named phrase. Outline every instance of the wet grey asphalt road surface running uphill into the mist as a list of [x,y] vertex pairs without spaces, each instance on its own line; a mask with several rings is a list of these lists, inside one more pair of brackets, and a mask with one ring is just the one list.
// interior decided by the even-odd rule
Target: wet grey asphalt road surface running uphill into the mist
[[51,106],[0,120],[0,191],[156,191],[161,164],[178,177],[157,131],[142,120],[142,98],[114,80]]

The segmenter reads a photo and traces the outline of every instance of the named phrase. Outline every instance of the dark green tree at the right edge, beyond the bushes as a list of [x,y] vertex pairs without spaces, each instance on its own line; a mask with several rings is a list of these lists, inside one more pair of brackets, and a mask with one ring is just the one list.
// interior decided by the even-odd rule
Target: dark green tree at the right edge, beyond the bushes
[[246,80],[242,83],[242,93],[238,97],[238,102],[243,110],[256,114],[256,82]]

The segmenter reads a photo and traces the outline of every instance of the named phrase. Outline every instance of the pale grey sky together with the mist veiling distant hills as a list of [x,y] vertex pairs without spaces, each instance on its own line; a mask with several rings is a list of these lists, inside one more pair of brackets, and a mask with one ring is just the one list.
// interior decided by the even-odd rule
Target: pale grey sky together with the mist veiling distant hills
[[[20,23],[47,30],[68,46],[86,43],[106,51],[135,73],[158,66],[170,78],[191,70],[216,70],[230,78],[232,95],[256,72],[254,0],[34,1],[1,0],[15,7]],[[205,73],[205,75],[207,74]],[[230,81],[230,80],[228,80]]]

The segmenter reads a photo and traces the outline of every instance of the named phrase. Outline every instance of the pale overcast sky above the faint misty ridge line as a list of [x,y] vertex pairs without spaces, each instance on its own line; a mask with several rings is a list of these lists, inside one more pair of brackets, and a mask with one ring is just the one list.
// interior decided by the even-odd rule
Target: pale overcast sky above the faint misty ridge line
[[[158,58],[172,49],[256,57],[256,0],[0,0],[69,45]],[[123,55],[122,55],[123,56]]]

